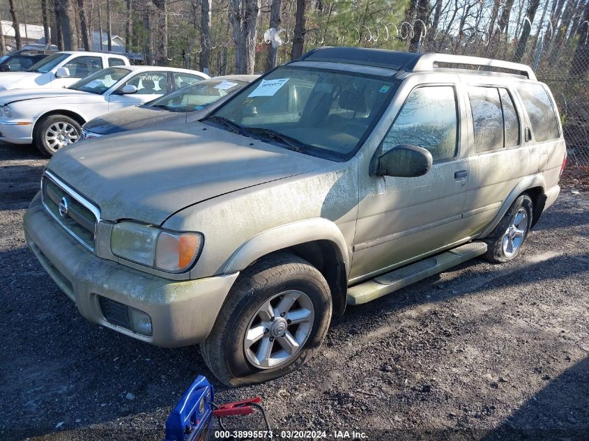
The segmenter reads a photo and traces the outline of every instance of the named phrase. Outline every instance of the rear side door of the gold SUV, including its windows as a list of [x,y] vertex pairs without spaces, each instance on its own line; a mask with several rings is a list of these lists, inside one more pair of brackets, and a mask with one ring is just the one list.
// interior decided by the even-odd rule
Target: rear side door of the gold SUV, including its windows
[[466,93],[468,136],[473,148],[461,238],[470,238],[488,226],[521,178],[535,173],[523,137],[526,120],[512,89],[468,84]]

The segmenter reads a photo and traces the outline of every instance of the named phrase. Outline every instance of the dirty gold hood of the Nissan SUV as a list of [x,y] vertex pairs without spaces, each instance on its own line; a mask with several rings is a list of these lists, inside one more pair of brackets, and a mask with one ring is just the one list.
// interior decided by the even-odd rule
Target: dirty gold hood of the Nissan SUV
[[135,130],[59,150],[50,171],[103,219],[162,224],[178,210],[332,162],[202,123]]

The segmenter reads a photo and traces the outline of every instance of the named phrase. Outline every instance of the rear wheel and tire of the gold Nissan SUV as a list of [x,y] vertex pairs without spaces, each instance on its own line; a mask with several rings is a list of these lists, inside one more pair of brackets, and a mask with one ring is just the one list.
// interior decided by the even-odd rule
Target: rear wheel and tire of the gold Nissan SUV
[[519,256],[530,232],[532,215],[532,199],[528,194],[521,194],[484,240],[487,242],[487,253],[483,257],[491,263],[504,263]]

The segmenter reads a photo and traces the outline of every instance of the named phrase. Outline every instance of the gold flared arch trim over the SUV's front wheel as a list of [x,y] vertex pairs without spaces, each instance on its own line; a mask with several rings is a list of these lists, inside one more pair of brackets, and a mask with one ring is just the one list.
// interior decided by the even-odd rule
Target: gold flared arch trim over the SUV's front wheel
[[222,272],[231,274],[232,272],[241,271],[252,262],[266,256],[266,254],[315,240],[328,240],[335,245],[334,248],[339,254],[337,258],[339,261],[344,262],[346,274],[348,274],[351,263],[351,249],[346,245],[344,235],[337,228],[337,225],[323,217],[292,222],[255,235],[231,255]]

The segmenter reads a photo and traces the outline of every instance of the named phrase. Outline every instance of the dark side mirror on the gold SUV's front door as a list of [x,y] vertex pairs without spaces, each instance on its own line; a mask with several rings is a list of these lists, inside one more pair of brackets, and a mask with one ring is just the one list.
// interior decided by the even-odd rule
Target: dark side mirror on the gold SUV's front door
[[427,173],[433,163],[434,159],[428,150],[402,144],[378,158],[376,175],[415,178]]

